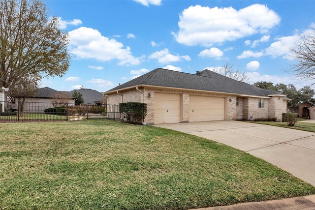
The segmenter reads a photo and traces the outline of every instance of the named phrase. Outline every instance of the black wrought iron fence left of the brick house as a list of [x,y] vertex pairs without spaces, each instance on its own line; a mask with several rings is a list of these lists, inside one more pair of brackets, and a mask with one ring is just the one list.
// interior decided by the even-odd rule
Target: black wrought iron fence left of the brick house
[[[3,109],[2,109],[3,107]],[[4,111],[3,111],[4,110]],[[118,104],[75,105],[0,101],[0,121],[119,120]]]

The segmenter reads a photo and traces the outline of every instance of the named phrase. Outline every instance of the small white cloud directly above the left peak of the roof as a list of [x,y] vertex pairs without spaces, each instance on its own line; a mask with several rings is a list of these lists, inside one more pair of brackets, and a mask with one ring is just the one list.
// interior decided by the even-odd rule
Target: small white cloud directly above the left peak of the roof
[[170,62],[176,62],[176,61],[182,61],[182,60],[191,60],[189,56],[172,55],[170,54],[167,48],[161,51],[152,53],[149,56],[149,59],[157,59],[159,63],[166,63],[166,64]]

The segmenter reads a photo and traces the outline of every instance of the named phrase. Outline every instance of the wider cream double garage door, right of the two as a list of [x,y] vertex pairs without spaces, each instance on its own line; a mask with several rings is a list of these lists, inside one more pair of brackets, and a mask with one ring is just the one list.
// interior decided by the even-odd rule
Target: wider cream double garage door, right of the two
[[189,95],[189,122],[224,120],[224,98]]

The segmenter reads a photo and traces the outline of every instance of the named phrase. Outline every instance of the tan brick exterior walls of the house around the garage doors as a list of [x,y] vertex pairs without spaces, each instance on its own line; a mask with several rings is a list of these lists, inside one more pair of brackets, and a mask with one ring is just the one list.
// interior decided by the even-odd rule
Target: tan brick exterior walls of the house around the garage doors
[[[148,124],[154,123],[154,102],[155,92],[160,93],[173,93],[181,95],[181,122],[189,122],[189,94],[199,96],[213,96],[213,97],[224,97],[225,98],[225,120],[236,120],[236,119],[250,119],[252,116],[255,118],[268,118],[277,117],[278,120],[282,120],[282,113],[284,111],[284,101],[278,100],[278,96],[273,96],[271,99],[264,99],[264,108],[258,108],[258,98],[252,97],[239,97],[239,105],[236,106],[236,96],[224,95],[224,94],[212,94],[203,92],[190,92],[181,90],[164,90],[164,89],[152,89],[152,88],[141,88],[143,92],[143,103],[148,106],[147,116],[145,122]],[[141,93],[137,90],[128,90],[120,92],[123,94],[123,102],[134,101],[142,102]],[[148,93],[151,97],[148,97]],[[230,100],[231,99],[231,100]],[[121,95],[114,93],[108,95],[108,104],[119,104],[121,102]],[[286,103],[286,102],[285,102]],[[285,104],[286,105],[286,104]],[[243,114],[243,117],[242,117]]]

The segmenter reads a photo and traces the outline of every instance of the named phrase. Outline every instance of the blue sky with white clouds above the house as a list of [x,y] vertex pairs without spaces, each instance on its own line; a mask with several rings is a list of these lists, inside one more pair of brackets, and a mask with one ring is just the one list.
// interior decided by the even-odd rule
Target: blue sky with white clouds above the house
[[[288,48],[315,23],[312,0],[47,0],[69,33],[62,78],[42,86],[101,92],[158,67],[194,73],[233,63],[248,83],[306,85],[286,73]],[[315,25],[314,25],[315,26]]]

